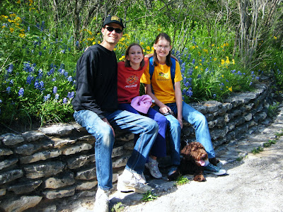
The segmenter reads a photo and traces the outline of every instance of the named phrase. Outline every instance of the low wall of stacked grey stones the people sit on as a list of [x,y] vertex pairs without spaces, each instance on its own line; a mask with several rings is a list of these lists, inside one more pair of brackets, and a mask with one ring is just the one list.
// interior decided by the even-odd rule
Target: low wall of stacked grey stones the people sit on
[[[224,145],[267,117],[272,90],[259,84],[248,93],[234,93],[224,101],[191,104],[209,122],[214,147]],[[133,134],[116,132],[112,153],[113,183],[134,147]],[[194,129],[185,124],[182,142],[194,141]],[[23,211],[41,201],[96,192],[95,140],[79,124],[54,124],[37,131],[0,136],[0,209]]]

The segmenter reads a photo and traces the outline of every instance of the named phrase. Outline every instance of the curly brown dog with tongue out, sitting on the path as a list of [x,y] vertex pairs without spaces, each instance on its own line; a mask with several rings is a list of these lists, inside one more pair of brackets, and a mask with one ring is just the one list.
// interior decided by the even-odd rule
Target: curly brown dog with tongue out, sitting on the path
[[204,171],[204,160],[207,160],[207,152],[199,142],[188,143],[181,151],[183,158],[178,170],[168,176],[169,180],[175,180],[180,175],[194,175],[194,180],[198,182],[206,181]]

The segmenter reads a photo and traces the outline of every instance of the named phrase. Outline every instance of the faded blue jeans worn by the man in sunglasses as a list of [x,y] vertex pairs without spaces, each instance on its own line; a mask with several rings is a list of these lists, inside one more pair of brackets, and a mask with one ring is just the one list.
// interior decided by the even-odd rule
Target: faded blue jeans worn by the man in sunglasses
[[[134,146],[131,157],[127,161],[126,169],[141,174],[149,155],[151,146],[158,134],[158,125],[153,119],[133,114],[131,112],[116,110],[105,112],[113,129],[125,129],[125,131],[139,134],[139,139]],[[96,138],[96,176],[98,187],[103,190],[112,188],[112,149],[115,138],[110,126],[103,122],[95,112],[80,110],[74,112],[74,119],[81,124],[89,134]]]

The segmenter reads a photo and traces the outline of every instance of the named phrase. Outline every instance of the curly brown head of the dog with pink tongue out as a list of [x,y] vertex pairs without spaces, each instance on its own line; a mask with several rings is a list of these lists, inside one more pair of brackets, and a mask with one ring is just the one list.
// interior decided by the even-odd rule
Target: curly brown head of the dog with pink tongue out
[[194,160],[198,166],[204,166],[204,160],[208,158],[207,151],[199,142],[188,143],[181,151],[181,155],[185,160]]

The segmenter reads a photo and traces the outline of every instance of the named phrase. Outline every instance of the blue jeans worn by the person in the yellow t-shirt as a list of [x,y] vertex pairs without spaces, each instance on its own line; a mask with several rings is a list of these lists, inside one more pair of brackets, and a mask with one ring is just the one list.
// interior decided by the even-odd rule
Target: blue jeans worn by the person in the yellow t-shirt
[[[177,115],[177,105],[175,102],[166,104],[171,110]],[[157,105],[154,106],[154,109],[159,111],[159,107]],[[171,149],[174,150],[171,152],[171,163],[173,165],[180,164],[180,134],[181,127],[178,120],[173,117],[173,115],[166,116],[170,129],[170,145]],[[195,137],[197,142],[202,143],[207,151],[208,158],[215,158],[215,152],[212,145],[212,139],[210,138],[209,128],[207,124],[207,119],[204,117],[204,114],[198,112],[190,105],[187,105],[183,102],[183,119],[186,122],[189,122],[195,128]]]

